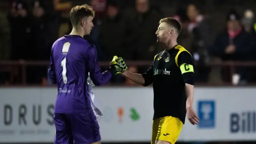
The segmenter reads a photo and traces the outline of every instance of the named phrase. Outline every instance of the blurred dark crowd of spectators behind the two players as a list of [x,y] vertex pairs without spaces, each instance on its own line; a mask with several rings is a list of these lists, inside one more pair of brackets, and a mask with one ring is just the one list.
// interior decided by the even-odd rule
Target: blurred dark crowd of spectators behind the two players
[[[254,67],[235,67],[230,76],[229,67],[208,66],[210,62],[256,60],[253,9],[246,6],[242,9],[227,8],[224,4],[220,4],[224,9],[218,7],[219,4],[210,8],[211,4],[208,4],[205,10],[198,1],[192,1],[195,3],[186,0],[3,1],[0,60],[49,60],[53,42],[72,30],[69,10],[74,5],[87,3],[93,6],[96,16],[91,35],[84,38],[96,46],[99,61],[110,61],[114,55],[125,60],[152,61],[155,54],[164,50],[156,43],[158,22],[172,16],[182,24],[178,43],[194,57],[197,82],[242,85],[256,82]],[[134,63],[134,66],[129,65],[129,70],[141,73],[148,67]],[[0,69],[0,83],[21,83],[17,66],[0,65]],[[28,84],[47,84],[47,66],[28,66],[26,75]],[[111,82],[134,84],[121,76],[114,76]]]

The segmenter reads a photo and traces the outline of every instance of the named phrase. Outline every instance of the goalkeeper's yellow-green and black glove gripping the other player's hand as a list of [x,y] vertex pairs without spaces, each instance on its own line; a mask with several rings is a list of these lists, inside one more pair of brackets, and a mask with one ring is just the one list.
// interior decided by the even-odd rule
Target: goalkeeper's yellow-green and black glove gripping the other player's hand
[[128,68],[122,57],[114,56],[113,60],[110,62],[110,66],[115,69],[116,74],[120,74],[126,71]]

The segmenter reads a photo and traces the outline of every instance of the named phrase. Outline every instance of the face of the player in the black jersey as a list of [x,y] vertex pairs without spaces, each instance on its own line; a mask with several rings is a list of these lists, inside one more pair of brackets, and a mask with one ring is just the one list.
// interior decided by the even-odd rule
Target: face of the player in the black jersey
[[165,22],[160,23],[156,31],[157,42],[165,43],[166,41],[168,41],[170,37],[170,32],[171,30],[168,24],[166,24]]

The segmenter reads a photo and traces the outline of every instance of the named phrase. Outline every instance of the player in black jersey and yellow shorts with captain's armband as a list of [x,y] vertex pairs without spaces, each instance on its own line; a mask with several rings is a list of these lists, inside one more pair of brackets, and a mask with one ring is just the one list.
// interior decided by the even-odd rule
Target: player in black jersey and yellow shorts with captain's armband
[[177,44],[181,25],[174,18],[163,18],[156,31],[157,41],[165,50],[154,57],[144,74],[129,71],[123,76],[148,86],[153,83],[154,117],[151,144],[174,144],[185,122],[186,113],[191,124],[199,118],[192,108],[194,97],[194,63],[192,55]]

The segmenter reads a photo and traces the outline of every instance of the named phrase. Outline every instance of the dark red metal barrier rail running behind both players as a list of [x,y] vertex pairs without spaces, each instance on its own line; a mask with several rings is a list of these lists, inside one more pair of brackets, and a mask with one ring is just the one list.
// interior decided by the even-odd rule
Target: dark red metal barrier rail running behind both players
[[[99,66],[109,66],[110,62],[99,62]],[[128,66],[150,66],[152,61],[126,61]],[[13,68],[21,68],[22,84],[26,85],[26,67],[27,66],[49,66],[49,61],[0,61],[0,72],[11,72]],[[235,61],[225,61],[225,62],[209,62],[206,66],[210,67],[224,67],[228,66],[230,68],[230,77],[235,72],[237,66],[244,67],[256,67],[256,61],[251,62],[235,62]]]

